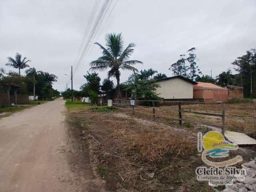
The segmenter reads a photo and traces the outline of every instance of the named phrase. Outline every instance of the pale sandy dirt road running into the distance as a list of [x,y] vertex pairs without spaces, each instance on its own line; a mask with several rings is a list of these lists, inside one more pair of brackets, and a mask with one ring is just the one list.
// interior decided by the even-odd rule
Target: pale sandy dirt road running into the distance
[[58,99],[0,120],[0,192],[105,191],[66,134],[65,110]]

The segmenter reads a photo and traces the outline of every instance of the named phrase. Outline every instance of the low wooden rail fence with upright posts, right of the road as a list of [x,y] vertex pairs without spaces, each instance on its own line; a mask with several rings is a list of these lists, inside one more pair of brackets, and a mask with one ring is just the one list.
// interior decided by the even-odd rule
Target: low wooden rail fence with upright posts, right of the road
[[[147,105],[148,105],[147,108],[151,108],[152,113],[142,112],[142,111],[139,111],[139,110],[135,111],[135,109],[134,109],[135,106],[145,107],[145,106],[140,105],[141,102],[146,102]],[[160,109],[160,107],[158,105],[161,104],[161,103],[164,103],[164,102],[178,105],[178,111],[177,111],[178,117],[166,116],[166,115],[156,113],[156,110]],[[216,104],[216,105],[221,105],[222,113],[217,114],[217,113],[205,113],[205,112],[198,112],[198,111],[191,111],[191,110],[182,110],[182,105],[188,105],[188,104]],[[154,120],[155,120],[156,116],[163,117],[163,118],[175,119],[175,120],[179,121],[180,126],[182,125],[182,121],[184,121],[184,122],[190,122],[190,123],[194,123],[194,124],[216,127],[216,128],[220,128],[222,130],[223,136],[224,136],[224,133],[225,133],[225,103],[223,103],[223,102],[186,102],[186,101],[158,101],[158,100],[146,100],[146,101],[143,100],[143,101],[140,101],[140,100],[135,100],[134,105],[133,105],[133,104],[130,103],[130,100],[112,100],[112,107],[122,109],[122,110],[131,110],[133,115],[135,114],[135,112],[150,114],[150,115],[153,116]],[[208,123],[208,122],[201,122],[201,121],[185,119],[185,118],[182,118],[183,113],[192,113],[192,114],[199,114],[199,115],[205,115],[205,116],[219,117],[219,118],[222,119],[222,124],[212,124],[212,123]]]

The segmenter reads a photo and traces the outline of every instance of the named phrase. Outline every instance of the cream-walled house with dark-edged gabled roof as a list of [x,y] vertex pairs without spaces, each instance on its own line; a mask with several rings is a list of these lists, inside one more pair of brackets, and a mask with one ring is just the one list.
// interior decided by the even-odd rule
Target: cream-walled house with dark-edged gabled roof
[[164,99],[193,99],[193,85],[197,83],[183,76],[173,76],[156,80],[158,96]]

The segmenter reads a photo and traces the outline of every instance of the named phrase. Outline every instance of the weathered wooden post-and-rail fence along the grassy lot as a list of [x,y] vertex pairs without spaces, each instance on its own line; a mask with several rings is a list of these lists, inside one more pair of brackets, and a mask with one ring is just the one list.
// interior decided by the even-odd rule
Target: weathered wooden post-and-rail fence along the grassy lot
[[[118,102],[120,103],[118,103]],[[126,102],[126,103],[121,103],[122,101]],[[140,105],[130,105],[129,103],[130,100],[112,100],[112,106],[114,108],[118,108],[118,109],[122,109],[122,110],[129,110],[128,107],[130,107],[132,114],[134,115],[135,110],[134,110],[134,106],[138,106],[138,107],[143,107]],[[136,101],[140,101],[140,100],[136,100]],[[144,102],[144,101],[141,101]],[[156,109],[160,109],[160,107],[155,107],[155,102],[162,102],[162,101],[146,101],[146,102],[152,102],[152,107],[147,107],[147,108],[152,108],[152,113],[148,113],[148,112],[142,112],[142,111],[136,111],[139,113],[143,113],[143,114],[150,114],[153,115],[154,120],[156,119],[156,116],[159,117],[163,117],[163,118],[171,118],[171,119],[175,119],[179,121],[179,125],[182,125],[182,121],[184,122],[190,122],[190,123],[194,123],[194,124],[200,124],[200,125],[206,125],[206,126],[211,126],[211,127],[216,127],[216,128],[221,128],[221,132],[224,136],[225,134],[225,104],[224,103],[212,103],[212,102],[177,102],[177,101],[168,101],[168,102],[173,102],[173,103],[177,103],[178,104],[178,117],[172,117],[172,116],[166,116],[166,115],[162,115],[162,114],[157,114],[156,113]],[[166,101],[164,101],[166,102]],[[182,103],[195,103],[195,104],[221,104],[222,105],[222,114],[215,114],[215,113],[204,113],[204,112],[197,112],[197,111],[188,111],[188,110],[182,110]],[[114,106],[116,105],[116,106]],[[117,107],[120,106],[120,107]],[[126,108],[122,108],[121,106],[126,106]],[[200,115],[206,115],[206,116],[217,116],[222,118],[222,124],[211,124],[208,122],[201,122],[201,121],[194,121],[194,120],[189,120],[189,119],[184,119],[182,118],[182,113],[193,113],[193,114],[200,114]]]

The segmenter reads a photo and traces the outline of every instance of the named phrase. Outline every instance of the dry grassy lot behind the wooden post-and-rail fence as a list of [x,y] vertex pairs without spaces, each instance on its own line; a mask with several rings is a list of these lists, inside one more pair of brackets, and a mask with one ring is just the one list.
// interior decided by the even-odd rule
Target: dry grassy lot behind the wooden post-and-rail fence
[[[117,106],[117,105],[115,105]],[[226,130],[243,132],[249,136],[256,138],[256,103],[234,103],[234,104],[225,104],[226,108],[226,118],[225,118],[225,127]],[[120,106],[118,106],[120,107]],[[125,107],[125,106],[122,106]],[[128,107],[127,110],[130,111],[131,108]],[[152,119],[152,107],[146,106],[135,106],[135,115],[138,117]],[[222,105],[221,104],[191,104],[191,103],[182,103],[182,110],[204,112],[204,113],[214,113],[222,114]],[[147,114],[143,113],[146,112]],[[164,103],[160,106],[157,106],[155,109],[156,120],[161,122],[166,122],[172,126],[177,126],[178,121],[171,118],[162,118],[157,115],[164,115],[169,117],[178,118],[178,103]],[[200,114],[192,113],[182,113],[182,118],[208,122],[211,124],[222,124],[222,119],[216,116],[206,116]],[[185,123],[183,124],[187,127],[198,127],[196,124]]]

